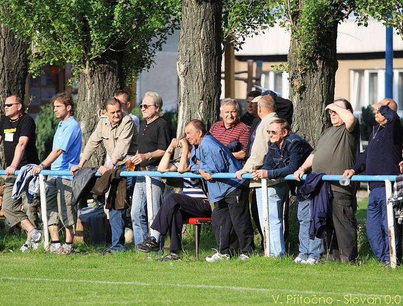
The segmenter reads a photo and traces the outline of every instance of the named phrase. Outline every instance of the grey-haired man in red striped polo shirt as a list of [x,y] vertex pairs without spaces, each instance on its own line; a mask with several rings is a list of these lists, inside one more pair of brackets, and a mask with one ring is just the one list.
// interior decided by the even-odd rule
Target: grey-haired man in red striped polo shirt
[[223,121],[216,122],[210,133],[234,154],[239,161],[245,161],[249,139],[249,127],[239,119],[239,105],[234,99],[226,98],[221,102]]

